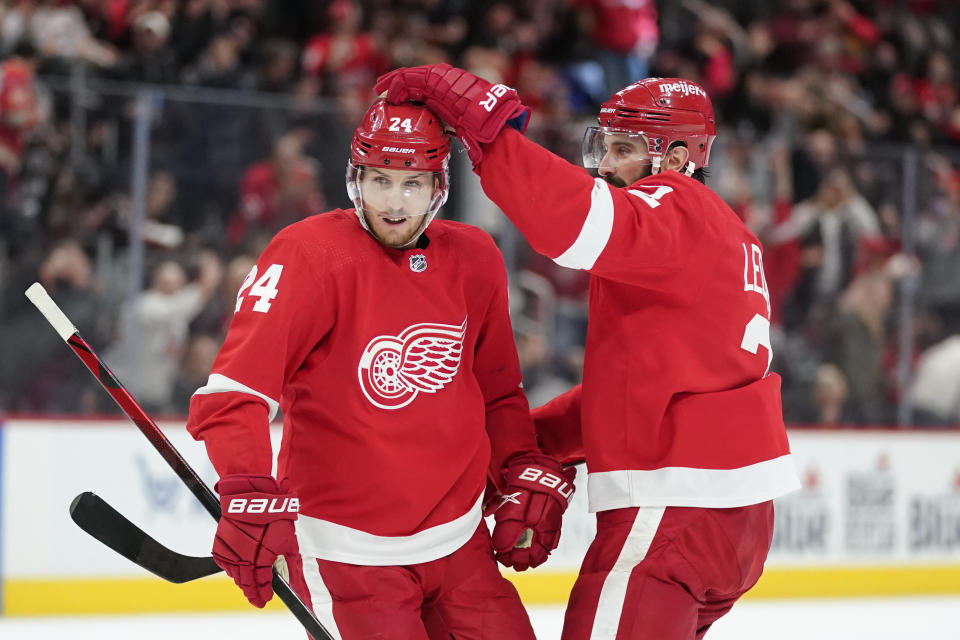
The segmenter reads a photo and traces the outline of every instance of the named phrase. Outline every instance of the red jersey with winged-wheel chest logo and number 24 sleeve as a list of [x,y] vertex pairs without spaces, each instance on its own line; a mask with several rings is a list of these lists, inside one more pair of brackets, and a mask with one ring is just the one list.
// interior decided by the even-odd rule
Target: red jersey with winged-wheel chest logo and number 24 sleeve
[[221,476],[270,472],[282,410],[277,475],[300,498],[305,555],[446,555],[476,529],[488,468],[536,450],[499,250],[455,222],[429,237],[385,248],[342,210],[281,231],[191,400]]

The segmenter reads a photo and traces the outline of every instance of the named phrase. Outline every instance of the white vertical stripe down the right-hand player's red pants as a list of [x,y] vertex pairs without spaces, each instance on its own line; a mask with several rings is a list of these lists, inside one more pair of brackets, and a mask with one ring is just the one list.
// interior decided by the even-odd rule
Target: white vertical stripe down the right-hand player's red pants
[[615,640],[627,600],[627,586],[633,569],[643,562],[650,550],[650,543],[657,535],[666,507],[641,507],[633,520],[630,533],[620,549],[617,561],[603,580],[600,599],[590,630],[590,640]]

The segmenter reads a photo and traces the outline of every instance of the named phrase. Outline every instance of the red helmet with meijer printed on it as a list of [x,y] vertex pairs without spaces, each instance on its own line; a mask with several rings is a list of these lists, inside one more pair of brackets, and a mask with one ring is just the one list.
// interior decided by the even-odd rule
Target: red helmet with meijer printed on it
[[599,166],[602,134],[642,135],[655,166],[674,142],[684,142],[694,168],[710,163],[717,135],[713,105],[703,87],[682,78],[647,78],[613,94],[600,107],[600,126],[590,127],[583,141],[587,167]]

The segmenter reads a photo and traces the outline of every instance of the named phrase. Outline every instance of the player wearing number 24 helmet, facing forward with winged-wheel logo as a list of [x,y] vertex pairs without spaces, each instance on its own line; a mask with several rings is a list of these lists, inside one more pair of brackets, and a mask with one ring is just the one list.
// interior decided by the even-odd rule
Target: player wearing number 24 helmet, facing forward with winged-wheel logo
[[[573,492],[536,444],[500,252],[475,227],[431,224],[448,158],[426,108],[374,103],[351,145],[356,209],[277,234],[191,399],[187,429],[220,475],[217,563],[262,607],[284,556],[343,640],[532,640],[494,555],[545,561]],[[488,477],[504,496],[492,536]]]

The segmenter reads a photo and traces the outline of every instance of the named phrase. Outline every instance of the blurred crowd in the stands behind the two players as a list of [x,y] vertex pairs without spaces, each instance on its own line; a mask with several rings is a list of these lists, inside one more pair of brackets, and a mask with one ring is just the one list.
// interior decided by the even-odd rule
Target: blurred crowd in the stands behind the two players
[[[574,163],[613,91],[700,82],[718,116],[708,185],[765,247],[788,422],[960,424],[953,0],[0,0],[0,411],[110,410],[29,308],[39,280],[149,410],[182,414],[271,235],[349,206],[376,77],[441,61],[516,87],[527,134]],[[540,404],[578,381],[588,277],[476,213],[463,184],[442,215],[509,253]]]

